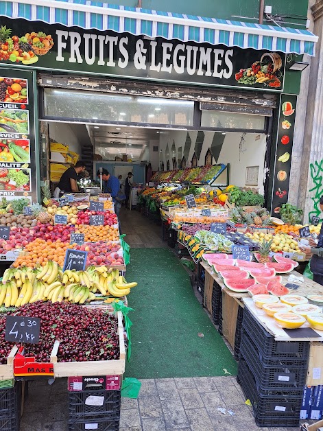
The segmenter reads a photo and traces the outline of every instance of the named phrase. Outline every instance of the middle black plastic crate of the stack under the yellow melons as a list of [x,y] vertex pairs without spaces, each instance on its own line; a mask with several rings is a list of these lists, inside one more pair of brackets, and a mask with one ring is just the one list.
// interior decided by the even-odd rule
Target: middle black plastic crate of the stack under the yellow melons
[[245,332],[243,332],[241,338],[240,353],[256,378],[257,388],[261,388],[261,390],[274,388],[276,391],[289,389],[291,391],[302,391],[302,388],[304,388],[307,378],[307,362],[303,366],[279,363],[275,366],[263,366],[250,342],[248,334]]

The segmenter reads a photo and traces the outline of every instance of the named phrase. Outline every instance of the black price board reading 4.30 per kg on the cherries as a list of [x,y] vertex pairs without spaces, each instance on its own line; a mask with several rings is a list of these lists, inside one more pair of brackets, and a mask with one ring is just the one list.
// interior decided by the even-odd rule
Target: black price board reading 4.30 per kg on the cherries
[[5,318],[5,341],[37,344],[39,331],[39,317],[7,316]]

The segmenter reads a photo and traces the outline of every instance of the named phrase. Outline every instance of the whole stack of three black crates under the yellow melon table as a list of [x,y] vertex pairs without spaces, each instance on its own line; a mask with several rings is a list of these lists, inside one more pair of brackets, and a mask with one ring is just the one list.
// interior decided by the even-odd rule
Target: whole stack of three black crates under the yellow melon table
[[276,341],[245,307],[237,380],[258,426],[298,426],[309,342]]

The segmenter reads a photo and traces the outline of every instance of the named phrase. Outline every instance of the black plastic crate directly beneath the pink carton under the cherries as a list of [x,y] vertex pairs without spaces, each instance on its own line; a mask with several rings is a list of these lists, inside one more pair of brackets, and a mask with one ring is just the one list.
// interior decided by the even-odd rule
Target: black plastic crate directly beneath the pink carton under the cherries
[[[88,406],[88,397],[104,397],[101,406]],[[86,418],[120,417],[121,391],[104,391],[88,389],[86,391],[69,392],[69,417],[70,419],[85,420]]]

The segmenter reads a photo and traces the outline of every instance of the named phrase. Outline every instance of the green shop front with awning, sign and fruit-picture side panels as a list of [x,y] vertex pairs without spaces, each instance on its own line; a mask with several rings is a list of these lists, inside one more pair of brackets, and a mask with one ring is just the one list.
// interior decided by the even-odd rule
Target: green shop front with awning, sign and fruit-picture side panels
[[[265,133],[267,207],[287,202],[300,87],[293,66],[315,54],[311,32],[86,0],[0,1],[0,16],[0,146],[29,153],[3,160],[0,152],[0,172],[29,176],[0,184],[0,197],[40,199],[49,172],[42,124],[64,121]],[[172,114],[151,119],[143,98],[163,100]],[[246,126],[224,127],[221,115],[242,115]]]

